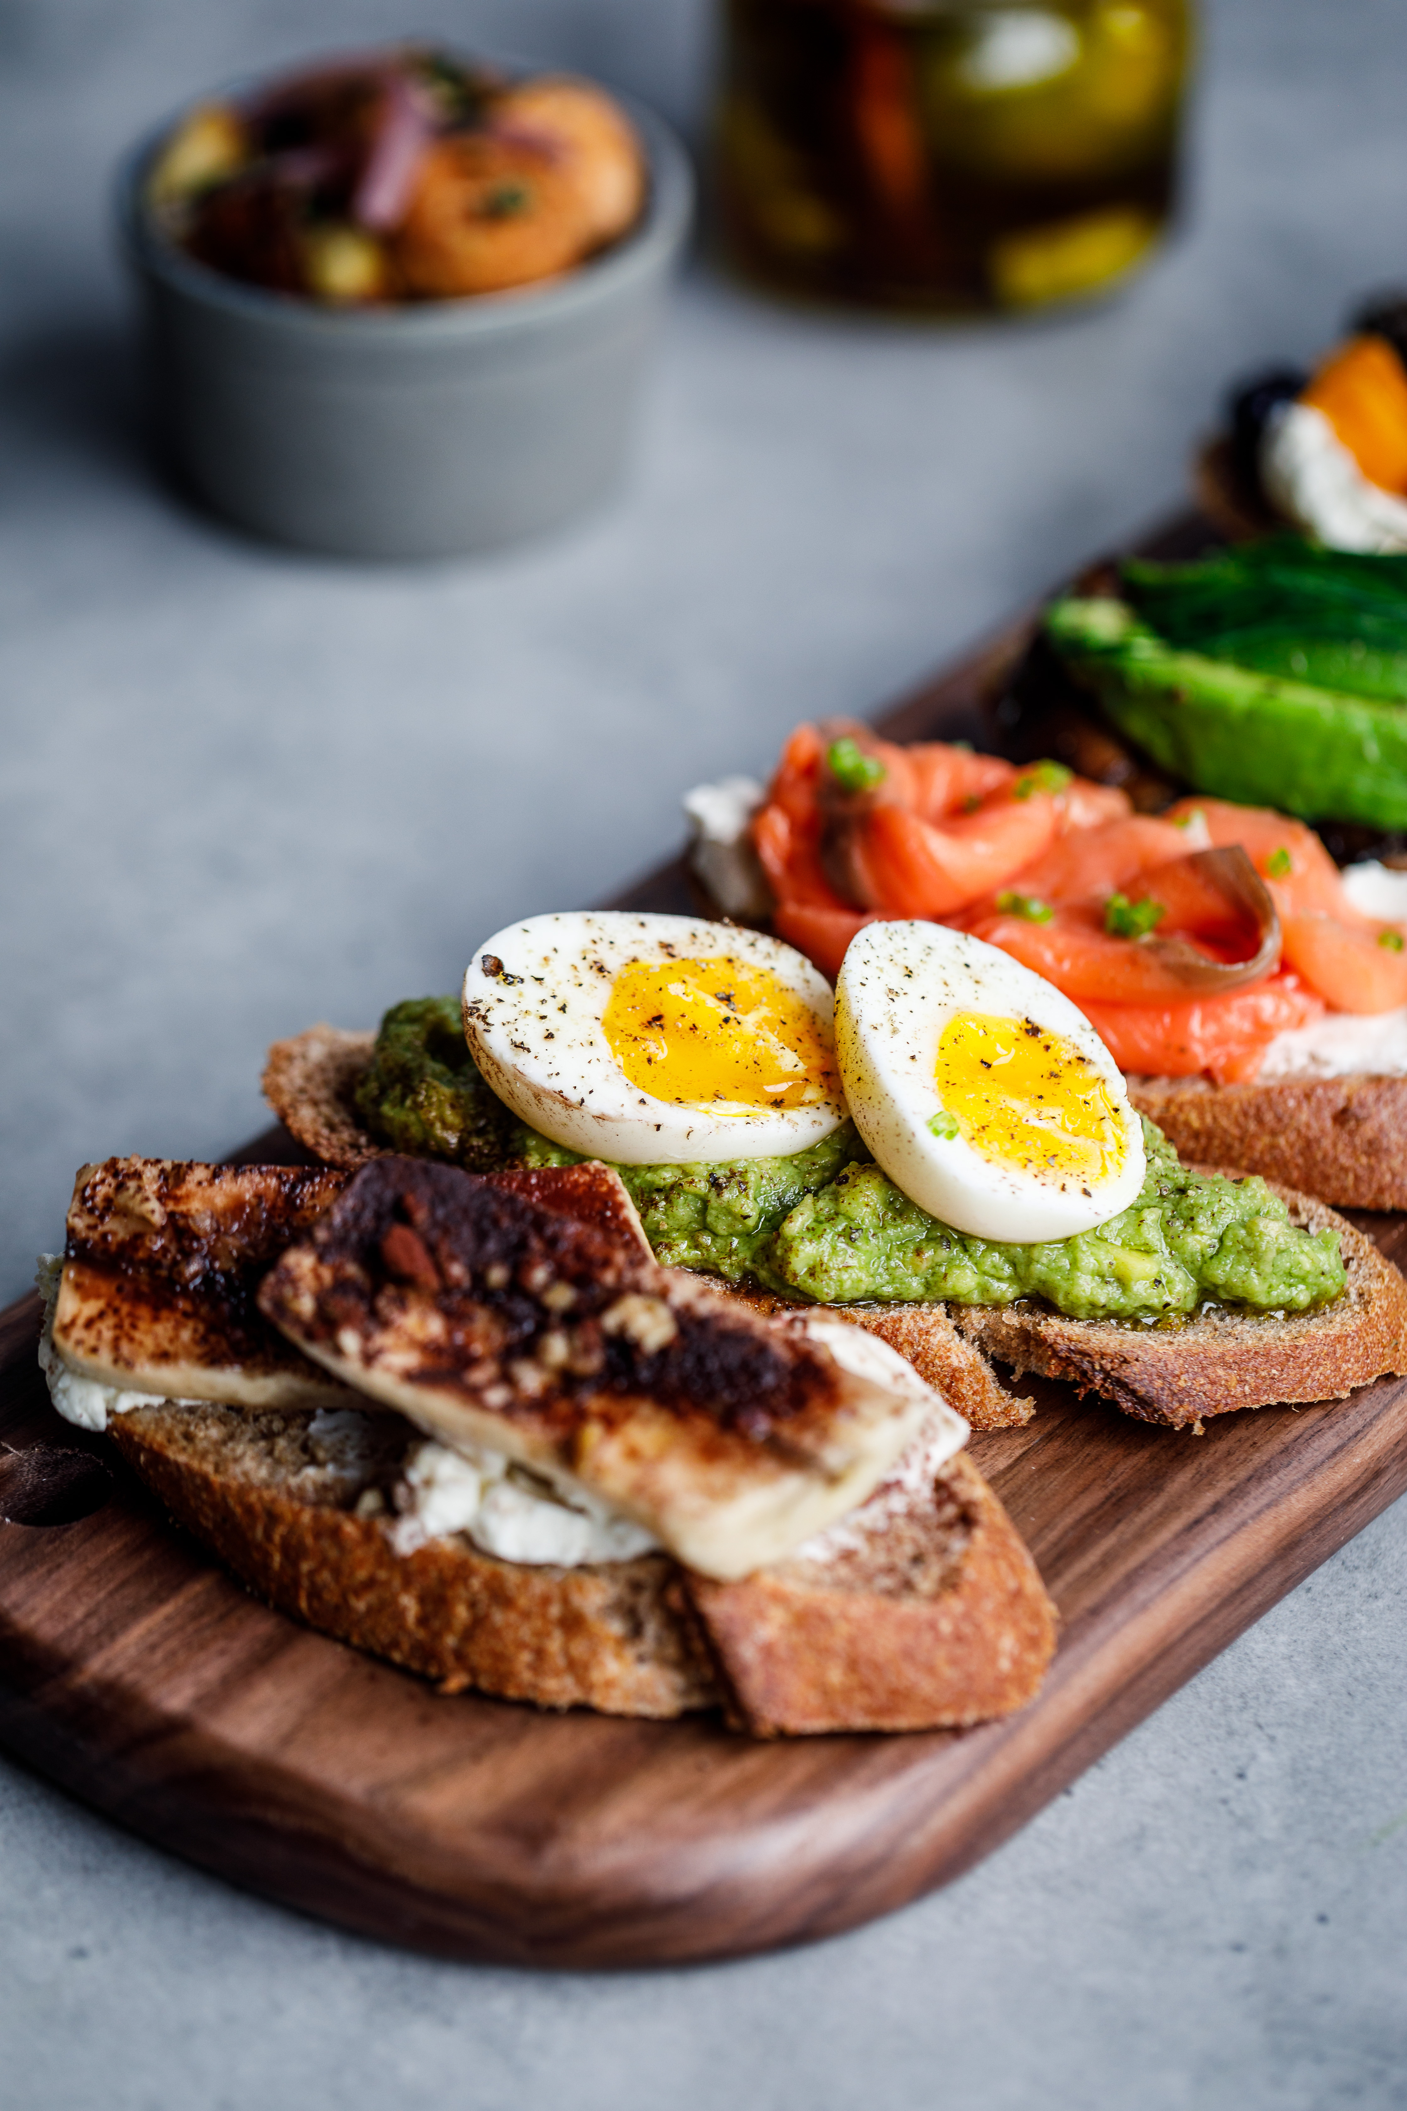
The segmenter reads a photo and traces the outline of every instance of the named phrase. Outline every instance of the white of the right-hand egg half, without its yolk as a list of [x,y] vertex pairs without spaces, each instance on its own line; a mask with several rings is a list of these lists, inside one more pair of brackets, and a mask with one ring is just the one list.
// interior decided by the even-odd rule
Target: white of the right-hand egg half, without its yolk
[[[1000,1165],[962,1136],[934,1136],[939,1037],[958,1011],[1032,1020],[1099,1070],[1124,1129],[1116,1174]],[[932,923],[873,923],[850,942],[835,988],[835,1053],[854,1123],[909,1201],[953,1231],[1036,1243],[1093,1231],[1143,1184],[1143,1131],[1122,1072],[1084,1013],[1010,954]]]

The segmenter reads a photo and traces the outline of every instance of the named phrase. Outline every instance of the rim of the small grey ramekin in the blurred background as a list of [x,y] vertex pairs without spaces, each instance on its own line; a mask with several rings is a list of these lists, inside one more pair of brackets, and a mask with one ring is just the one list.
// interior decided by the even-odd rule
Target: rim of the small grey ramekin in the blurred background
[[[494,61],[492,61],[494,63]],[[521,61],[504,70],[521,72]],[[551,72],[551,68],[534,68]],[[268,76],[257,76],[264,80]],[[591,78],[586,74],[582,80]],[[416,302],[388,308],[338,308],[308,300],[302,293],[276,293],[268,287],[226,279],[196,258],[186,255],[148,213],[146,173],[186,112],[200,101],[234,97],[255,87],[253,76],[186,97],[169,116],[150,125],[120,156],[114,175],[118,239],[131,266],[162,281],[171,291],[203,306],[224,310],[247,323],[291,336],[327,336],[346,344],[407,342],[441,344],[466,338],[496,338],[534,323],[567,321],[572,315],[610,302],[656,266],[667,266],[688,236],[694,217],[694,171],[675,131],[648,103],[620,89],[608,89],[641,135],[650,173],[645,209],[637,226],[597,258],[589,258],[561,279],[544,285],[508,287],[502,293],[464,293],[456,300]],[[597,84],[597,82],[593,82]]]

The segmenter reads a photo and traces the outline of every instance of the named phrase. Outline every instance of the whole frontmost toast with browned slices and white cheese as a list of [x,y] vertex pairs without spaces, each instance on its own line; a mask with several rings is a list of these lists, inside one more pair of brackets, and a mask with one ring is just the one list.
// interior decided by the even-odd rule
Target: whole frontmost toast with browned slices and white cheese
[[[105,1334],[103,1283],[133,1290]],[[721,1706],[755,1735],[920,1729],[1021,1706],[1051,1655],[1053,1609],[958,1452],[960,1419],[884,1349],[846,1355],[825,1328],[768,1326],[658,1271],[603,1167],[473,1180],[380,1159],[348,1180],[108,1161],[82,1169],[51,1292],[55,1404],[99,1427],[105,1402],[129,1465],[272,1604],[445,1691]],[[312,1349],[316,1383],[329,1359],[352,1383],[316,1404],[249,1393],[240,1355],[270,1319],[302,1343],[293,1370]],[[264,1336],[253,1351],[272,1357]],[[413,1419],[369,1393],[378,1372]],[[186,1400],[162,1391],[177,1381]],[[460,1528],[485,1526],[481,1482],[498,1552]],[[738,1558],[759,1530],[774,1558]]]

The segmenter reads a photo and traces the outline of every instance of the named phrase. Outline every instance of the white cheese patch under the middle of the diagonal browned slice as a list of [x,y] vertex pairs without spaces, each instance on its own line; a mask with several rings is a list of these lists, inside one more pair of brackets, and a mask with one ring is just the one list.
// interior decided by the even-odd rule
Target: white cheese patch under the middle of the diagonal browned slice
[[658,1539],[586,1490],[559,1492],[504,1452],[464,1442],[418,1444],[397,1488],[390,1543],[413,1554],[430,1539],[464,1533],[483,1554],[525,1566],[580,1568],[629,1562]]

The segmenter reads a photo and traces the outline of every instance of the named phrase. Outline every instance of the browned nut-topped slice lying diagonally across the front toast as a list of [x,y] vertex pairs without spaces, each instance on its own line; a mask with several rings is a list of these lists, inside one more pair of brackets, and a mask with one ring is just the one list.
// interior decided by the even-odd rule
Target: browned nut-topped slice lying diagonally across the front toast
[[365,1165],[259,1305],[441,1442],[580,1488],[711,1577],[751,1575],[854,1509],[934,1416],[953,1450],[966,1435],[899,1357],[848,1368],[608,1222],[422,1159]]

